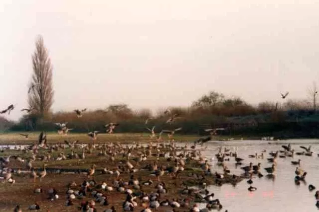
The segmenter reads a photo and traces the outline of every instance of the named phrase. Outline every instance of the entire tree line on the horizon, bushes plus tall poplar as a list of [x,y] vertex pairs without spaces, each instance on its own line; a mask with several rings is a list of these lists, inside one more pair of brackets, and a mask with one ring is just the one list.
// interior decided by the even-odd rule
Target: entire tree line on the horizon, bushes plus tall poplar
[[[53,67],[44,46],[43,38],[37,37],[35,51],[31,57],[32,76],[28,95],[28,113],[17,123],[10,123],[9,129],[14,131],[54,131],[54,123],[68,122],[75,132],[105,130],[103,126],[109,122],[118,122],[118,132],[145,132],[145,121],[156,125],[157,129],[182,126],[183,133],[200,134],[204,127],[227,127],[232,132],[255,130],[261,123],[317,122],[317,87],[309,89],[310,100],[288,99],[279,102],[261,102],[251,105],[239,97],[226,97],[222,93],[210,91],[193,101],[188,107],[171,107],[172,113],[182,117],[172,126],[163,124],[167,117],[161,108],[154,114],[150,109],[132,110],[129,105],[109,105],[98,110],[87,110],[81,118],[74,111],[51,112],[53,105]],[[175,126],[174,126],[175,125]],[[151,126],[152,127],[152,126]],[[271,128],[271,127],[270,127]],[[169,130],[169,129],[168,129]],[[267,130],[265,130],[267,131]]]

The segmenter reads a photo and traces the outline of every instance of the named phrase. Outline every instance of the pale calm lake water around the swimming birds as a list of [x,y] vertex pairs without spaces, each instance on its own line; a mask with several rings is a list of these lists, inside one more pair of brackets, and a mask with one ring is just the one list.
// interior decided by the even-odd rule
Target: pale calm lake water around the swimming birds
[[[294,158],[278,158],[276,178],[268,179],[265,177],[265,167],[271,167],[272,163],[267,161],[270,158],[270,151],[283,150],[281,145],[287,145],[291,143],[292,148],[297,151],[303,151],[300,145],[308,147],[312,145],[313,156],[294,155]],[[223,146],[226,148],[238,148],[238,157],[244,159],[242,166],[249,165],[249,162],[253,162],[257,165],[258,162],[262,165],[262,178],[254,178],[253,185],[257,187],[257,191],[249,192],[247,189],[247,179],[238,183],[235,187],[230,184],[225,184],[221,187],[210,186],[208,190],[214,192],[215,197],[218,198],[223,205],[224,212],[226,209],[228,212],[313,212],[318,211],[316,204],[316,198],[314,197],[316,190],[319,190],[319,140],[286,140],[286,141],[210,141],[207,144],[207,149],[202,151],[203,155],[207,158],[215,158],[215,154],[218,152],[218,147]],[[264,152],[264,159],[249,158],[249,154],[261,154]],[[295,185],[295,170],[296,166],[291,164],[291,161],[297,161],[301,159],[301,166],[303,170],[307,171],[306,182],[307,185],[301,183],[299,186]],[[212,171],[222,173],[222,167],[217,166],[216,159],[209,161],[214,165]],[[243,170],[241,166],[236,168],[234,157],[230,157],[230,161],[225,161],[225,164],[230,169],[231,173],[241,174]],[[317,187],[314,191],[308,190],[308,185],[313,184]],[[201,208],[205,207],[205,204],[201,204]]]

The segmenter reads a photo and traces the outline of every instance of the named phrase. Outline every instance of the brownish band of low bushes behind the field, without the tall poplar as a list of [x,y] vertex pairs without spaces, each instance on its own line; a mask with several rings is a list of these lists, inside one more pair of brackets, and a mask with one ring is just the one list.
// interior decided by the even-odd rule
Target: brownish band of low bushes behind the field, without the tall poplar
[[163,111],[153,115],[148,109],[133,111],[128,105],[110,105],[105,109],[87,110],[81,118],[75,112],[51,113],[44,121],[36,112],[25,115],[15,123],[11,131],[55,131],[54,123],[68,122],[72,132],[105,131],[109,122],[120,123],[118,133],[147,132],[148,126],[156,125],[156,131],[182,127],[182,134],[204,135],[207,128],[226,128],[221,132],[227,136],[275,136],[284,138],[316,138],[319,136],[319,114],[308,101],[283,100],[284,103],[262,102],[253,106],[241,98],[226,98],[217,92],[210,92],[193,102],[190,107],[171,108],[172,113],[182,117],[172,125],[165,124],[167,116]]

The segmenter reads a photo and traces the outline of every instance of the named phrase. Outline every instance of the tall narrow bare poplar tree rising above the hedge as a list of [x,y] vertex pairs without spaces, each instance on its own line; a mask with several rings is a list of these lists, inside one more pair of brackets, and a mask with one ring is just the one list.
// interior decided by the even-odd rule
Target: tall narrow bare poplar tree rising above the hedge
[[35,41],[35,51],[32,55],[32,80],[28,92],[30,108],[44,117],[53,104],[52,65],[48,51],[44,47],[43,38],[39,36]]

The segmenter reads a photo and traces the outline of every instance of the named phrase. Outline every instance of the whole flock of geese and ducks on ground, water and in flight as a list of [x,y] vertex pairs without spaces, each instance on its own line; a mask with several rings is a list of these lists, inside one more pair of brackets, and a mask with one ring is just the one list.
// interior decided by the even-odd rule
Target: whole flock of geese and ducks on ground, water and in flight
[[[30,90],[29,90],[30,91]],[[28,92],[29,92],[28,91]],[[287,97],[289,92],[285,95],[281,93],[283,99]],[[0,111],[0,114],[8,113],[15,108],[14,105],[9,105],[6,109]],[[21,111],[26,111],[27,113],[31,112],[34,108],[22,109]],[[82,110],[74,110],[78,118],[82,117]],[[182,117],[178,113],[171,113],[169,109],[164,112],[165,115],[168,115],[168,119],[165,123],[171,124],[176,119]],[[15,183],[14,174],[21,174],[21,170],[12,170],[10,168],[10,159],[14,158],[20,163],[25,163],[26,171],[30,172],[30,177],[33,178],[33,181],[36,182],[36,179],[39,179],[40,182],[47,176],[46,166],[52,160],[69,160],[69,159],[79,159],[85,160],[87,157],[93,154],[94,151],[98,151],[97,156],[107,158],[107,163],[112,164],[114,168],[104,167],[100,174],[105,174],[111,176],[108,178],[108,181],[97,182],[93,177],[97,174],[96,165],[92,164],[91,168],[87,171],[87,179],[82,183],[71,182],[68,184],[66,191],[57,191],[54,186],[46,191],[48,199],[50,201],[55,201],[59,199],[61,194],[66,195],[66,207],[74,205],[75,200],[81,200],[80,206],[78,207],[83,212],[96,212],[96,204],[99,203],[100,206],[108,206],[109,209],[104,210],[104,212],[116,212],[115,206],[111,206],[111,201],[108,199],[108,196],[114,193],[122,193],[126,195],[125,200],[123,200],[122,209],[123,211],[134,211],[138,206],[142,206],[143,210],[141,212],[152,212],[152,210],[157,210],[159,208],[165,207],[167,212],[175,212],[178,208],[183,208],[183,211],[189,210],[189,212],[208,212],[211,210],[222,210],[223,206],[221,205],[219,199],[214,199],[214,194],[209,194],[209,191],[205,189],[198,188],[189,188],[186,184],[183,185],[184,188],[180,190],[180,194],[184,198],[180,198],[179,195],[172,199],[163,199],[162,196],[167,194],[169,190],[166,187],[165,182],[162,180],[164,176],[171,176],[171,178],[166,178],[166,180],[178,179],[182,173],[185,173],[185,167],[187,164],[195,162],[200,168],[201,173],[188,173],[187,176],[198,181],[198,186],[206,185],[206,177],[213,176],[215,183],[217,185],[222,184],[222,179],[229,178],[232,183],[236,184],[241,181],[242,178],[248,178],[247,184],[249,184],[248,191],[254,192],[257,190],[257,187],[253,186],[253,178],[257,176],[258,178],[264,177],[262,173],[263,170],[266,171],[266,177],[275,179],[276,170],[277,170],[277,158],[293,158],[294,155],[300,156],[313,156],[313,151],[311,146],[305,147],[300,146],[303,151],[295,152],[291,144],[282,145],[282,149],[277,150],[276,152],[269,152],[271,157],[267,158],[269,163],[272,163],[270,167],[265,167],[262,169],[261,163],[254,164],[250,162],[248,166],[243,165],[243,158],[238,157],[238,152],[231,152],[230,149],[226,147],[223,149],[219,148],[218,153],[215,155],[217,159],[217,165],[221,166],[223,173],[218,173],[217,171],[213,172],[211,170],[211,165],[208,163],[208,159],[204,157],[201,153],[201,149],[198,148],[202,146],[203,143],[211,141],[214,135],[217,135],[219,131],[225,130],[224,128],[216,129],[206,129],[205,131],[210,134],[210,136],[199,138],[194,141],[194,144],[188,148],[187,144],[184,147],[177,147],[176,142],[173,139],[175,132],[180,131],[182,128],[176,128],[173,130],[160,130],[157,135],[155,128],[153,126],[150,128],[148,126],[149,120],[146,120],[145,125],[146,129],[150,132],[151,141],[147,145],[139,144],[134,142],[131,146],[124,146],[118,142],[103,143],[103,144],[80,144],[79,141],[64,141],[64,143],[48,144],[47,135],[44,132],[41,132],[38,137],[38,142],[28,146],[25,149],[21,149],[23,153],[31,153],[30,157],[22,158],[20,155],[0,157],[0,176],[2,176],[3,182],[8,182],[11,184]],[[55,123],[58,127],[59,135],[67,135],[69,131],[73,130],[72,128],[67,127],[68,123]],[[118,123],[109,123],[105,125],[106,133],[114,133],[115,128],[119,126]],[[99,131],[89,132],[87,135],[95,141]],[[162,141],[162,133],[167,133],[168,141]],[[20,134],[26,139],[29,138],[28,134]],[[154,144],[153,142],[156,141]],[[65,154],[64,150],[70,149],[71,153]],[[81,153],[76,153],[76,149],[81,149]],[[3,150],[2,150],[3,151]],[[59,152],[56,156],[52,156],[51,153]],[[263,150],[259,155],[257,152],[253,155],[249,155],[249,158],[264,159],[266,150]],[[116,159],[117,156],[122,155],[123,159]],[[96,155],[95,155],[96,156]],[[151,160],[152,156],[157,157],[157,160]],[[319,154],[318,154],[319,156]],[[230,174],[230,171],[226,165],[226,161],[230,161],[230,158],[234,158],[236,167],[241,166],[243,171],[242,175],[237,176],[235,174]],[[161,161],[160,158],[164,158],[165,163],[159,164]],[[32,163],[34,161],[43,161],[42,170],[36,172]],[[173,165],[171,165],[171,162]],[[142,164],[144,166],[142,166]],[[297,161],[291,161],[293,166],[296,166],[295,169],[295,183],[300,185],[301,182],[306,183],[305,179],[307,172],[304,171],[301,166],[301,159]],[[149,176],[147,179],[142,179],[142,177],[136,177],[139,171],[148,171]],[[124,174],[129,175],[129,180],[124,181],[122,176]],[[155,177],[154,180],[151,177]],[[157,183],[155,183],[157,182]],[[145,192],[144,188],[149,187],[153,188],[150,192]],[[314,185],[308,186],[310,191],[316,190]],[[34,193],[43,193],[41,187],[34,189]],[[60,194],[60,195],[59,195]],[[91,200],[85,200],[85,198],[90,198]],[[319,191],[315,193],[315,198],[317,200],[316,206],[319,209]],[[82,201],[83,200],[83,201]],[[194,204],[190,204],[194,202]],[[200,209],[198,203],[206,203],[206,207]],[[39,210],[39,203],[35,203],[28,207],[29,210]],[[178,211],[178,210],[177,210]],[[14,208],[14,212],[22,212],[22,209],[19,205]],[[228,212],[226,210],[225,212]]]

